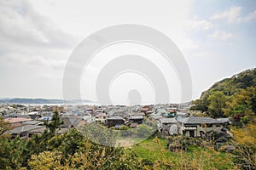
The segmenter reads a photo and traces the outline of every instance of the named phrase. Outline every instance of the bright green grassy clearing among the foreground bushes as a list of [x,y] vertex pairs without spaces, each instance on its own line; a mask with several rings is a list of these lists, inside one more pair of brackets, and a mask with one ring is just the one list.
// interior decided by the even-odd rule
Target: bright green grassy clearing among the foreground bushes
[[172,169],[236,169],[234,156],[221,153],[211,147],[189,146],[187,151],[170,152],[167,140],[150,137],[135,144],[127,152],[135,151],[137,156],[148,164],[171,167]]

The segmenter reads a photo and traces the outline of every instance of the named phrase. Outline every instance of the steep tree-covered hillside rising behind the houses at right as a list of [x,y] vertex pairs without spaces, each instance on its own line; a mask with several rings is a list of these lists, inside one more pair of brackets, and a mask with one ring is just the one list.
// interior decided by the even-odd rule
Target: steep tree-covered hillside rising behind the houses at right
[[215,82],[193,104],[190,110],[202,111],[212,117],[255,115],[256,68]]

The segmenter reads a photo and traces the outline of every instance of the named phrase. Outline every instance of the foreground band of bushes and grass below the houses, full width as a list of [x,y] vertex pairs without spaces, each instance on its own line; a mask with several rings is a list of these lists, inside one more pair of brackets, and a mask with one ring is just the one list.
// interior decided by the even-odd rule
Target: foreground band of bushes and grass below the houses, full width
[[[58,119],[58,117],[56,113],[54,119]],[[58,121],[53,120],[52,125],[59,124],[54,122]],[[201,144],[189,145],[189,143],[186,143],[186,150],[171,152],[170,146],[169,149],[167,148],[167,139],[153,136],[132,145],[131,148],[114,148],[92,143],[88,136],[84,136],[74,128],[69,133],[58,135],[54,134],[53,130],[49,130],[50,126],[47,127],[48,129],[43,135],[33,136],[29,140],[11,139],[9,136],[1,135],[0,168],[236,169],[238,167],[255,167],[252,157],[244,154],[244,147],[250,154],[255,151],[255,135],[253,134],[255,127],[245,129],[247,130],[245,136],[241,134],[241,129],[240,131],[234,129],[236,143],[237,146],[240,146],[240,150],[233,154],[213,150],[207,145],[202,147]],[[56,129],[57,126],[50,128]],[[101,132],[96,134],[101,138],[109,134],[107,128],[97,132]],[[135,139],[135,141],[138,140]],[[108,140],[108,144],[109,142],[114,144],[115,139]]]

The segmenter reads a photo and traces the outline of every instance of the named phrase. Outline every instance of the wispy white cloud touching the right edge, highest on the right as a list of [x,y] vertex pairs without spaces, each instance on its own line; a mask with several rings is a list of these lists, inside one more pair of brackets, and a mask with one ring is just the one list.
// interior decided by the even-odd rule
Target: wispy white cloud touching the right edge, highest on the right
[[249,14],[241,14],[241,7],[231,7],[228,10],[212,15],[211,20],[227,20],[229,23],[248,22],[256,19],[256,10]]

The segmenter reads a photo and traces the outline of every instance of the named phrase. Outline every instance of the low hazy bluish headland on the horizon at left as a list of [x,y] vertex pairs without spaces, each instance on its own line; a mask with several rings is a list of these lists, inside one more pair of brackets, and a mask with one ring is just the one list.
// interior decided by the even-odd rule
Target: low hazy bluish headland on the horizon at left
[[[64,104],[63,99],[26,99],[26,98],[0,98],[2,104]],[[67,104],[81,103],[79,99],[66,100]],[[83,103],[93,103],[88,99],[84,99]]]

